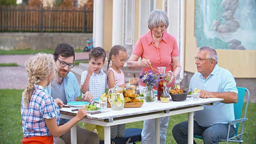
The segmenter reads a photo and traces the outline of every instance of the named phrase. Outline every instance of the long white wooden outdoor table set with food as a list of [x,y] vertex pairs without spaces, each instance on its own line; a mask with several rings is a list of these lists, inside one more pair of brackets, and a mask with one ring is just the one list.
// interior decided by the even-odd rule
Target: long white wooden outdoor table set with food
[[[170,99],[168,103],[162,103],[155,100],[154,102],[144,102],[140,108],[124,108],[120,111],[114,111],[107,108],[100,114],[90,114],[83,118],[81,122],[104,126],[104,143],[111,144],[110,126],[137,122],[141,120],[155,119],[155,144],[160,144],[160,118],[176,114],[188,113],[188,144],[193,144],[193,127],[194,112],[203,110],[203,104],[212,105],[214,102],[223,101],[222,98],[200,98],[198,101],[187,98],[181,102],[173,102]],[[77,111],[72,112],[71,108],[60,109],[60,117],[72,119],[76,116]],[[76,126],[71,128],[71,144],[76,144]]]

